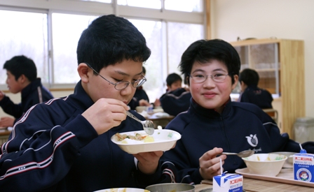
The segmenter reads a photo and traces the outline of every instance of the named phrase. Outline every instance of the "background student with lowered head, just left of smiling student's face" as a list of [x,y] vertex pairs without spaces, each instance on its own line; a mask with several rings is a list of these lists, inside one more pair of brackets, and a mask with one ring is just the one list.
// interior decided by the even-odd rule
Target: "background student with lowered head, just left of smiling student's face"
[[171,73],[168,75],[166,82],[167,92],[159,99],[163,111],[176,116],[180,112],[188,110],[191,93],[189,89],[182,88],[182,77],[177,73]]

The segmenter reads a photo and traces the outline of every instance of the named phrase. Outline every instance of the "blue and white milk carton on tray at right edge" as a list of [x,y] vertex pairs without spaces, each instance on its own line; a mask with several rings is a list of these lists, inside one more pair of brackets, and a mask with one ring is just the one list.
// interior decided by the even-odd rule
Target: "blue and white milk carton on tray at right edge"
[[307,154],[304,149],[294,154],[293,172],[294,180],[314,182],[314,154]]

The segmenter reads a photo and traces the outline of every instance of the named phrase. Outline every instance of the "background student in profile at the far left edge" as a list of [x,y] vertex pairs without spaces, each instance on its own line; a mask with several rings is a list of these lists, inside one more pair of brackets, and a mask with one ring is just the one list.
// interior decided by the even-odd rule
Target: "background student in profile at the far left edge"
[[24,55],[15,56],[6,61],[6,84],[13,94],[21,93],[21,103],[15,104],[0,91],[0,106],[4,112],[12,117],[1,117],[0,127],[13,126],[22,115],[37,103],[43,103],[53,98],[53,95],[43,87],[41,79],[37,78],[37,69],[34,61]]

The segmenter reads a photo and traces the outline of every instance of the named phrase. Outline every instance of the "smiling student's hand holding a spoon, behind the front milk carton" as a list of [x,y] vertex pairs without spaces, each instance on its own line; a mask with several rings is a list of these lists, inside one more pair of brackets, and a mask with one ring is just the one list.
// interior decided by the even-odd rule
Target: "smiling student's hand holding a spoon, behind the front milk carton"
[[[226,155],[221,155],[223,150],[221,148],[214,147],[214,149],[206,152],[200,157],[200,175],[203,179],[212,179],[212,177],[221,174],[220,170],[220,158],[221,163],[224,165]],[[223,172],[224,170],[222,170]]]

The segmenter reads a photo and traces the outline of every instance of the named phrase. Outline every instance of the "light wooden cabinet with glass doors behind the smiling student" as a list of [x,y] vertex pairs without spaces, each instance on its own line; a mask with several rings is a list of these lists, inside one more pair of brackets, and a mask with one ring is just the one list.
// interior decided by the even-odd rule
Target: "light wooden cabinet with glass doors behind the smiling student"
[[294,138],[294,121],[305,115],[303,40],[251,39],[231,42],[241,59],[241,70],[254,68],[259,87],[280,96],[278,124]]

